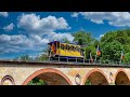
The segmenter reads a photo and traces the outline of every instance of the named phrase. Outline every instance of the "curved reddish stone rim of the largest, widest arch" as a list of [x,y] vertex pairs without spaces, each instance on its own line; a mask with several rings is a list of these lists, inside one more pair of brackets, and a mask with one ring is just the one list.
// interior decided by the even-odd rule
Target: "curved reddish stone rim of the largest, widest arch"
[[[23,83],[23,85],[27,85],[29,81],[31,81],[34,78],[38,77],[38,75],[41,75],[43,77],[43,74],[53,74],[53,78],[54,75],[57,75],[60,77],[60,79],[64,80],[63,82],[65,82],[65,84],[63,85],[72,85],[72,82],[63,73],[61,72],[60,70],[56,70],[56,69],[52,69],[52,68],[48,68],[48,69],[40,69],[36,72],[34,72],[32,74],[30,74]],[[56,79],[57,80],[57,79]],[[53,85],[53,84],[52,84]],[[58,84],[54,84],[54,85],[58,85]]]

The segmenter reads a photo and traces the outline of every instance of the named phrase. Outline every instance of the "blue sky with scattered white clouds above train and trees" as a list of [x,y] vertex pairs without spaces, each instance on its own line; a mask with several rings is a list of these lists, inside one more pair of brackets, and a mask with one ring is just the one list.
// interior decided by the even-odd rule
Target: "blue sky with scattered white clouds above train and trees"
[[81,29],[98,40],[106,32],[130,28],[129,12],[0,12],[0,59],[38,56],[53,40]]

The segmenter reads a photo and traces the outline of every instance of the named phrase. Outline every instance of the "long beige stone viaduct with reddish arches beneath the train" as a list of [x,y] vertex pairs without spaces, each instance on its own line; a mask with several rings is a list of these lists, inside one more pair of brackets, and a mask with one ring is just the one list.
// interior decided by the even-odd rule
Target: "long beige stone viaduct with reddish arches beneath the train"
[[130,66],[0,60],[1,85],[27,85],[36,77],[49,85],[130,85]]

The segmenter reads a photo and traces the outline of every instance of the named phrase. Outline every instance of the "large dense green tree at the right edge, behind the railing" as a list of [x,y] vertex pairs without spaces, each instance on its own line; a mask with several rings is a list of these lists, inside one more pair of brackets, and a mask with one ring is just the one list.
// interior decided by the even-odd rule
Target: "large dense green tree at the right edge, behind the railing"
[[[130,61],[130,29],[109,31],[101,38],[101,48],[103,51],[102,59],[119,60],[121,51],[125,53],[125,60]],[[118,59],[117,59],[118,57]]]

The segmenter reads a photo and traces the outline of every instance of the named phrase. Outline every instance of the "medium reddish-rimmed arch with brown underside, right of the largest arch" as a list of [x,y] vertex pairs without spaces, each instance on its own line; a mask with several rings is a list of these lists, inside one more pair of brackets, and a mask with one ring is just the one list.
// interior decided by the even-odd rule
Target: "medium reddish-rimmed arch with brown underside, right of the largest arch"
[[[101,69],[92,69],[84,77],[82,85],[86,84],[86,81],[90,79],[92,85],[108,85],[108,80],[105,73]],[[95,82],[94,82],[95,81]]]

